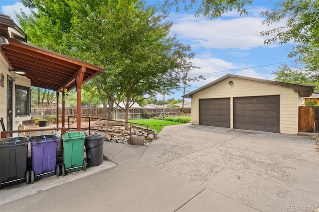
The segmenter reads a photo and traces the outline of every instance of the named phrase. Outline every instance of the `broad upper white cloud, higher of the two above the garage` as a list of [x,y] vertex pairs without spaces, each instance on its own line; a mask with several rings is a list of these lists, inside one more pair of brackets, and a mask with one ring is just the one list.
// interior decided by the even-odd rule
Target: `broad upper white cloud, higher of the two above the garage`
[[181,14],[174,16],[171,33],[176,34],[178,40],[186,40],[192,48],[249,50],[265,45],[266,37],[260,35],[261,31],[283,24],[280,22],[268,27],[262,24],[264,19],[260,16],[245,16],[209,20]]

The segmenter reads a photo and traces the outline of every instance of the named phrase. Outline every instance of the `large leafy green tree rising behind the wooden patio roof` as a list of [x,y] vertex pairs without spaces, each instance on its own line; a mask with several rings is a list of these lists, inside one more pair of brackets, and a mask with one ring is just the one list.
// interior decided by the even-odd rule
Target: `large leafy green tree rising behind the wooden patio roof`
[[[87,91],[109,108],[124,102],[128,113],[145,95],[154,97],[163,88],[171,92],[181,82],[185,61],[194,56],[189,46],[170,36],[172,23],[164,21],[165,14],[144,1],[22,2],[38,8],[29,16],[17,15],[30,42],[105,67],[106,72],[89,84],[96,89]],[[187,71],[195,68],[187,64]]]

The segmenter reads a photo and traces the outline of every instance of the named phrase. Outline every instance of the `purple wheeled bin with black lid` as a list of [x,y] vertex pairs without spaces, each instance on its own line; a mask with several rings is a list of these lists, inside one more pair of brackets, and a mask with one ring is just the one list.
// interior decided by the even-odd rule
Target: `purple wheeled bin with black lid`
[[59,166],[56,164],[56,150],[59,138],[55,135],[31,136],[31,161],[30,181],[42,179],[56,174],[59,175]]

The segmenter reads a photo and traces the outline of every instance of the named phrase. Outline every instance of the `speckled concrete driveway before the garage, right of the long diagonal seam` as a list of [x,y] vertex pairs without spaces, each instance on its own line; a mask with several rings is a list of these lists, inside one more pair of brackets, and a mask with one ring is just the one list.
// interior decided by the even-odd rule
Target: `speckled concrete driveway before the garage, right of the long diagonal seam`
[[307,136],[193,125],[159,136],[140,159],[195,185],[258,211],[319,205],[319,153]]

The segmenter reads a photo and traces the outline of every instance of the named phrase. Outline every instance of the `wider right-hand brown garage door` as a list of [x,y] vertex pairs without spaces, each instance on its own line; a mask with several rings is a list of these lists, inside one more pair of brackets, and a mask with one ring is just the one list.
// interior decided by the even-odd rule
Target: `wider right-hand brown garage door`
[[280,132],[279,96],[234,98],[234,128]]

